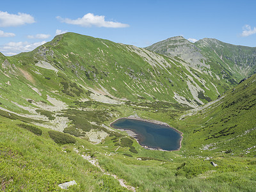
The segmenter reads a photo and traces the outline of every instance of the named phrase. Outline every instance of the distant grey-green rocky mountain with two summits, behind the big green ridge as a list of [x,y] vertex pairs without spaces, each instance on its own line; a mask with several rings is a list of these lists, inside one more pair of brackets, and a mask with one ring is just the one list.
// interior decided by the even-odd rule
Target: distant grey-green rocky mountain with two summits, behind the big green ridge
[[145,49],[166,56],[179,56],[189,66],[231,84],[255,74],[256,47],[231,45],[212,38],[204,38],[193,44],[182,36],[175,36]]

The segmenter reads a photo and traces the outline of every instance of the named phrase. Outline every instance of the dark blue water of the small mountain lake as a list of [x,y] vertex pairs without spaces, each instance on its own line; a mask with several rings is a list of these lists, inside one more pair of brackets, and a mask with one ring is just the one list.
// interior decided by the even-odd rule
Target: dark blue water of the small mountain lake
[[111,124],[115,129],[131,130],[138,134],[140,145],[163,150],[179,150],[182,136],[172,127],[153,124],[142,120],[121,118]]

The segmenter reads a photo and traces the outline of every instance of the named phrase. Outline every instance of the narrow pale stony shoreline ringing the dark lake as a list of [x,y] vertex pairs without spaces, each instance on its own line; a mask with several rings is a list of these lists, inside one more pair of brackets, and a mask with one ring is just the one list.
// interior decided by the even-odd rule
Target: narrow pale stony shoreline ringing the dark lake
[[[148,122],[148,123],[157,124],[157,125],[164,125],[164,126],[166,126],[166,127],[169,127],[169,128],[171,128],[171,129],[175,130],[176,132],[178,132],[178,133],[180,134],[179,148],[178,148],[177,150],[163,150],[162,148],[152,148],[152,147],[148,147],[148,146],[146,146],[146,145],[141,145],[140,140],[138,139],[138,136],[139,136],[139,135],[138,135],[136,132],[131,131],[131,129],[118,129],[118,130],[120,130],[120,131],[125,131],[125,132],[127,132],[127,134],[128,134],[129,136],[131,136],[132,138],[134,138],[134,139],[141,145],[141,147],[146,148],[146,149],[149,149],[149,150],[161,150],[161,151],[179,151],[179,150],[180,150],[180,148],[181,148],[181,141],[182,141],[182,139],[183,139],[183,136],[182,136],[182,135],[183,135],[183,132],[180,132],[179,130],[177,130],[177,129],[171,127],[170,125],[168,125],[168,124],[166,124],[166,123],[164,123],[164,122],[160,122],[160,121],[158,121],[158,120],[148,120],[148,119],[141,118],[141,117],[138,116],[138,115],[131,115],[131,116],[127,116],[127,117],[118,118],[118,119],[116,119],[115,121],[111,122],[111,123],[109,124],[109,126],[112,127],[112,124],[114,124],[116,121],[121,120],[121,119],[131,119],[131,120],[138,120],[138,121]],[[116,128],[114,128],[114,127],[112,127],[112,128],[113,128],[113,129],[116,129]]]

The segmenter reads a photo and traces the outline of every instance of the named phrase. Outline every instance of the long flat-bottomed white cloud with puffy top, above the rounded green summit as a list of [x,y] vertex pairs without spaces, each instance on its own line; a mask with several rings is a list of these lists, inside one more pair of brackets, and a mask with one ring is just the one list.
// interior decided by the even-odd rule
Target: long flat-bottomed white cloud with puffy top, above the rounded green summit
[[82,27],[104,27],[104,28],[127,28],[128,24],[122,24],[120,22],[106,21],[104,15],[93,15],[93,13],[87,13],[82,18],[78,18],[75,20],[68,18],[61,18],[60,16],[56,17],[61,22],[65,22],[67,24],[79,25]]

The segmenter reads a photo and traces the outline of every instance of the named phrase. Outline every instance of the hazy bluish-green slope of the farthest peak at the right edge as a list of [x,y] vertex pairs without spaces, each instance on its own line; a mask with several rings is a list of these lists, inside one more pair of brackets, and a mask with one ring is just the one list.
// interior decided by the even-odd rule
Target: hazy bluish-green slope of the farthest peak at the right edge
[[233,77],[239,82],[256,72],[255,47],[232,45],[210,38],[198,40],[195,45],[208,58],[210,65],[211,63],[218,63],[224,69],[224,71],[220,71],[219,75],[224,75],[225,79]]

